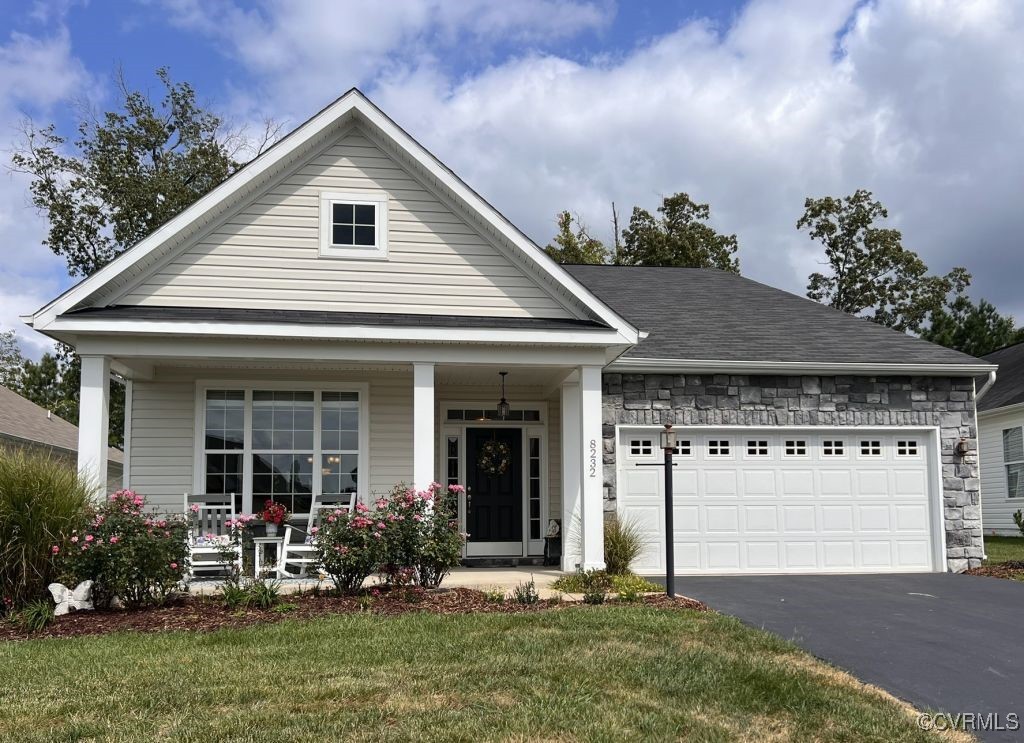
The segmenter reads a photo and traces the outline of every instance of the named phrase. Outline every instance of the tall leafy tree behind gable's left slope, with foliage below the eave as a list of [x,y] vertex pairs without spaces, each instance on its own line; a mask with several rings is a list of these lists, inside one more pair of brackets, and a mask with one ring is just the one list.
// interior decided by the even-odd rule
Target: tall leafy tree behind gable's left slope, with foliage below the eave
[[[25,141],[11,157],[27,173],[33,206],[46,218],[45,245],[68,263],[72,276],[99,270],[167,220],[186,209],[243,166],[240,154],[259,155],[279,134],[266,122],[261,137],[227,131],[219,117],[197,102],[187,83],[161,68],[159,102],[117,82],[117,110],[85,112],[74,147],[53,124],[25,126]],[[68,347],[23,364],[18,393],[77,425],[78,357]],[[119,445],[124,389],[111,391],[111,443]]]

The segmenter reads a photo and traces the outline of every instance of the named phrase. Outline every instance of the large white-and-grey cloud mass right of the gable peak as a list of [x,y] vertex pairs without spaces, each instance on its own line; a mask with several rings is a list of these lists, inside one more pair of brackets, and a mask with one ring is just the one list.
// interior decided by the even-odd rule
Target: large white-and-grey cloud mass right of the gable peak
[[[818,260],[795,228],[804,198],[867,187],[933,270],[966,264],[975,296],[1024,320],[1024,8],[1013,0],[755,0],[727,28],[694,19],[583,59],[552,49],[604,28],[605,5],[177,7],[178,23],[231,44],[279,113],[369,84],[542,243],[560,209],[608,234],[612,200],[625,215],[687,190],[738,233],[744,273],[802,292]],[[452,40],[480,37],[522,51],[453,72]]]

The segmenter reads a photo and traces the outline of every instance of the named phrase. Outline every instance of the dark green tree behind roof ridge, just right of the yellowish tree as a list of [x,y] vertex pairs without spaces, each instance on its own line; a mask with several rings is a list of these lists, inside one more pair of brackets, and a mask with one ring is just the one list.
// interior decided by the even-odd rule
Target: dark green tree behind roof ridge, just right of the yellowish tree
[[719,234],[707,222],[711,207],[694,204],[686,193],[666,196],[655,218],[633,208],[623,230],[623,246],[615,262],[626,266],[688,266],[720,268],[739,273],[738,243],[734,234]]

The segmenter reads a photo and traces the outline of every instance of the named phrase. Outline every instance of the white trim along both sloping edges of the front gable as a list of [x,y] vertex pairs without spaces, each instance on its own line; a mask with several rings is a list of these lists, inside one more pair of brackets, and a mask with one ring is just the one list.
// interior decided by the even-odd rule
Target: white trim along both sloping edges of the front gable
[[105,288],[118,281],[134,280],[180,247],[187,237],[279,177],[302,157],[323,144],[332,133],[338,131],[339,126],[348,123],[358,123],[367,127],[400,154],[409,164],[426,174],[431,187],[437,188],[466,208],[483,227],[499,238],[506,250],[516,254],[539,279],[561,297],[562,301],[579,307],[583,315],[592,316],[614,329],[623,335],[625,343],[636,341],[635,327],[551,260],[497,209],[355,88],[322,110],[102,269],[23,319],[36,330],[45,332],[46,326],[59,315],[85,306]]

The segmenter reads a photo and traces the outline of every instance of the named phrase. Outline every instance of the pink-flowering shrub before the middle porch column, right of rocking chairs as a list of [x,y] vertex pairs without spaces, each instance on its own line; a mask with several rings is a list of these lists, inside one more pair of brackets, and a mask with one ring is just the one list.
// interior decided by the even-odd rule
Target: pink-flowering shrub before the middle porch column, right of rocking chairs
[[371,510],[340,509],[328,515],[313,543],[319,569],[335,585],[356,591],[373,572],[392,585],[417,582],[436,587],[459,564],[465,534],[459,531],[460,485],[432,483],[426,490],[403,485],[378,498]]

